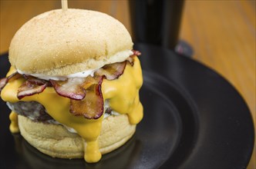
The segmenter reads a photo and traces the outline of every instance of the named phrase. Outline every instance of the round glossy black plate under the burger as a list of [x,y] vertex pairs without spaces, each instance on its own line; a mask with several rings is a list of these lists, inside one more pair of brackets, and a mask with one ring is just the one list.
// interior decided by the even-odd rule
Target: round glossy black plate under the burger
[[[173,51],[142,51],[143,121],[123,147],[97,164],[48,157],[8,131],[0,102],[1,168],[246,168],[254,146],[251,114],[240,94],[220,75]],[[8,70],[0,57],[1,77]]]

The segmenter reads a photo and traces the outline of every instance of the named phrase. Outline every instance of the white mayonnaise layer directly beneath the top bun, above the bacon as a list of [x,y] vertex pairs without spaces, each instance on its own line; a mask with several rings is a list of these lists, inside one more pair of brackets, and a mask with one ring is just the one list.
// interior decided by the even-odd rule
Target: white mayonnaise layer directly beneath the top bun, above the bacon
[[[130,55],[133,55],[133,51],[126,50],[126,51],[117,52],[115,55],[110,56],[108,61],[105,61],[105,62],[101,61],[102,64],[99,66],[99,68],[102,68],[104,65],[107,65],[107,64],[125,61],[126,58],[128,58]],[[86,71],[77,72],[75,74],[66,75],[66,76],[47,76],[42,74],[29,74],[19,69],[17,69],[17,71],[21,75],[32,75],[36,78],[41,78],[46,81],[49,81],[49,79],[56,80],[56,81],[65,81],[67,78],[86,78],[89,75],[93,77],[94,72],[97,71],[99,68],[89,69]]]

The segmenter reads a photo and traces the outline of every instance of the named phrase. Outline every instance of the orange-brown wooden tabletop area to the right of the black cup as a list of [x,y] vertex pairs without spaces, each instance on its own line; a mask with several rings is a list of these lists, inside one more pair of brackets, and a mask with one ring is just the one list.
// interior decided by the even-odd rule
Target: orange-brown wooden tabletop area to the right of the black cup
[[[180,31],[180,38],[193,46],[194,59],[237,88],[251,110],[254,128],[255,8],[255,1],[187,1]],[[248,168],[256,168],[255,147]]]

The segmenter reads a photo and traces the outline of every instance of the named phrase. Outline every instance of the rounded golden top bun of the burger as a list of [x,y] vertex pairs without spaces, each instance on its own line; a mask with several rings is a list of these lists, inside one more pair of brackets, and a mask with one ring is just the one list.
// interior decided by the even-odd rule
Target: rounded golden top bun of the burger
[[115,18],[57,9],[35,16],[16,32],[9,61],[26,74],[63,76],[109,64],[117,52],[132,48],[129,32]]

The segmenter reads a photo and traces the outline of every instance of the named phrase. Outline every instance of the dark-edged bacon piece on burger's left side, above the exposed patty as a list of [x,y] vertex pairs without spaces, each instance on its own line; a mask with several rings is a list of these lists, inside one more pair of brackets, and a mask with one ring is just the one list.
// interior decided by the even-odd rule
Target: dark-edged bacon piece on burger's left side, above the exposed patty
[[31,96],[33,94],[42,93],[45,90],[47,84],[36,85],[30,81],[25,81],[19,88],[17,98],[22,99],[25,96]]

